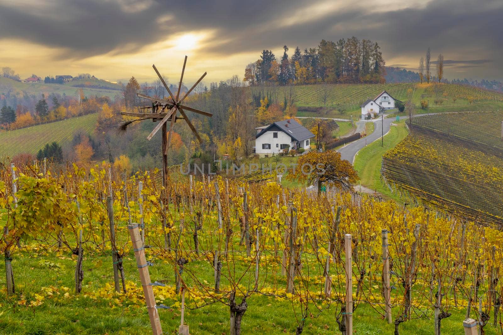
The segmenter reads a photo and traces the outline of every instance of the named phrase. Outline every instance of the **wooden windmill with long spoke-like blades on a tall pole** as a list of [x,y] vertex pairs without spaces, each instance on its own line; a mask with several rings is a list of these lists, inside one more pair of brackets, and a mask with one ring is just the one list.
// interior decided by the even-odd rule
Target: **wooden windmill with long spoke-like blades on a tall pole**
[[[155,70],[155,73],[157,73],[157,76],[159,76],[160,81],[166,88],[167,92],[170,94],[170,98],[168,99],[161,99],[161,98],[155,98],[151,97],[148,95],[140,94],[138,93],[138,97],[144,98],[147,100],[152,101],[152,104],[149,106],[144,106],[140,107],[144,113],[129,113],[126,111],[122,111],[121,114],[129,117],[135,117],[138,118],[136,120],[130,121],[125,123],[124,125],[121,126],[121,130],[125,130],[129,124],[131,124],[134,121],[141,121],[141,120],[147,120],[147,119],[152,119],[153,122],[157,122],[160,120],[160,122],[155,126],[155,128],[152,130],[150,135],[147,136],[147,140],[151,140],[152,137],[159,131],[159,129],[162,128],[162,172],[163,172],[163,177],[162,177],[162,182],[165,184],[165,179],[167,176],[167,151],[170,147],[171,144],[171,138],[173,137],[173,129],[175,126],[175,123],[177,120],[185,120],[187,122],[187,125],[189,125],[190,129],[196,136],[196,138],[199,140],[199,142],[202,142],[201,137],[196,131],[196,128],[192,124],[192,122],[189,120],[187,117],[187,114],[185,114],[185,110],[192,111],[193,113],[201,114],[207,117],[212,117],[213,115],[211,113],[206,113],[205,111],[192,108],[186,105],[183,105],[182,102],[185,100],[185,98],[192,92],[192,90],[203,80],[204,76],[206,75],[206,72],[199,78],[198,81],[192,87],[185,93],[185,95],[180,98],[180,88],[182,87],[182,81],[184,79],[184,72],[185,72],[185,64],[187,64],[187,56],[185,56],[184,60],[184,66],[182,68],[182,76],[180,77],[180,84],[178,85],[178,91],[177,95],[174,95],[170,88],[167,86],[166,82],[160,75],[159,71],[157,71],[157,68],[155,65],[152,65],[152,67]],[[167,112],[166,112],[167,110]],[[180,111],[180,114],[182,117],[177,117],[177,111]],[[166,133],[167,133],[167,122],[170,122],[170,131],[166,139]]]

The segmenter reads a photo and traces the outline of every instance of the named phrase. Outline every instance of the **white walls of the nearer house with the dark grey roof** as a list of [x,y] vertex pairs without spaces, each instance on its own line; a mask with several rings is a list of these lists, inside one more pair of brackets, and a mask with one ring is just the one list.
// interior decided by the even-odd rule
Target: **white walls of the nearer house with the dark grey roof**
[[[276,134],[276,135],[275,135]],[[276,136],[276,137],[275,137]],[[299,148],[308,150],[311,139],[302,141],[298,144]],[[283,131],[268,131],[255,139],[255,153],[260,155],[277,155],[283,152],[283,149],[298,149],[297,141],[293,140]]]

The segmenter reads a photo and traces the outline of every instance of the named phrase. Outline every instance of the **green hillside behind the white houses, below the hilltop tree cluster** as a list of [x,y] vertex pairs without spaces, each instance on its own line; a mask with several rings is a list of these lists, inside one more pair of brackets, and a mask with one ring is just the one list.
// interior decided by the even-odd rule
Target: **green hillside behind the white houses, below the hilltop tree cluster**
[[[460,110],[496,110],[503,107],[503,93],[457,84],[316,84],[298,86],[253,86],[254,98],[268,97],[273,103],[293,100],[300,117],[360,116],[360,105],[383,90],[406,101],[412,90],[412,102],[421,108],[427,101],[432,113]],[[490,106],[487,105],[490,103]],[[479,107],[480,106],[480,107]],[[495,108],[494,108],[495,107]],[[446,109],[446,110],[444,110]],[[418,112],[419,113],[419,112]]]

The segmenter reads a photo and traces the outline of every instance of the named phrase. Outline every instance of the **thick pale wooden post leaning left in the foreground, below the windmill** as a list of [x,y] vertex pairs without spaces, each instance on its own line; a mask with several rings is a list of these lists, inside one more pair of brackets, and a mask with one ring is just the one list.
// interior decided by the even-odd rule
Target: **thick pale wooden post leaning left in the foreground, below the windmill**
[[153,335],[161,335],[162,328],[160,326],[159,313],[157,312],[157,308],[155,306],[155,296],[152,289],[152,283],[150,281],[150,274],[147,266],[148,263],[145,259],[145,249],[143,248],[143,243],[141,242],[138,224],[128,225],[128,229],[129,235],[131,236],[131,242],[133,243],[134,256],[136,258],[136,265],[138,266],[138,272],[140,274],[141,286],[143,287],[143,293],[145,295],[145,302],[148,309],[148,317],[150,319],[152,332]]

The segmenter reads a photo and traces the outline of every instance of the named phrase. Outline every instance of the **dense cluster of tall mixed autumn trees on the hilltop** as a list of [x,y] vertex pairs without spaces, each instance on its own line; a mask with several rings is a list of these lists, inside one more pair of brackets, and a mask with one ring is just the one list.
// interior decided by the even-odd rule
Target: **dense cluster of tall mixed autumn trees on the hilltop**
[[249,85],[327,83],[382,83],[384,59],[377,42],[357,37],[337,42],[321,40],[316,48],[297,46],[292,56],[285,45],[281,59],[263,50],[260,59],[246,65]]

